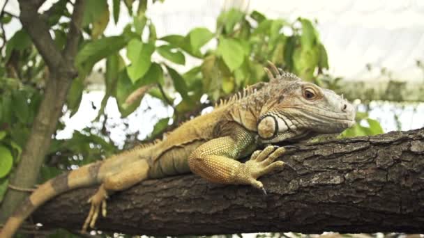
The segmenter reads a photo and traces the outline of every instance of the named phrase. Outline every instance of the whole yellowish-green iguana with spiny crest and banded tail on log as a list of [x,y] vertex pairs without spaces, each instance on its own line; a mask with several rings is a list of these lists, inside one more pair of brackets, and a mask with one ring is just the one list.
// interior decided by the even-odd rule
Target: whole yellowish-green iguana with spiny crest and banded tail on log
[[[31,212],[57,194],[93,184],[100,187],[89,200],[91,209],[83,230],[94,227],[99,212],[106,215],[106,199],[114,191],[150,178],[192,171],[211,182],[250,184],[264,191],[257,178],[282,168],[284,163],[275,159],[285,149],[257,148],[342,132],[355,118],[354,106],[333,91],[280,72],[273,64],[271,70],[266,69],[269,83],[243,90],[211,113],[185,122],[158,143],[83,166],[40,185],[10,216],[0,237],[11,237]],[[237,161],[251,153],[244,164]]]

